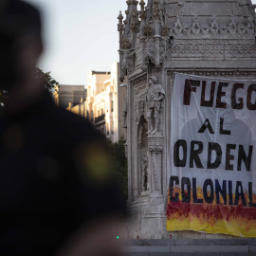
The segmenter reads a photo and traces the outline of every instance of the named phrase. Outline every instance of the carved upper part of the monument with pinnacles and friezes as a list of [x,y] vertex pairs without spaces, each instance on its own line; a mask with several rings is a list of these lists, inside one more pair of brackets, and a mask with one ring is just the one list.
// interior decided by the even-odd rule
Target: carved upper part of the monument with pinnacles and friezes
[[159,67],[171,58],[227,60],[256,55],[254,9],[244,9],[239,0],[238,5],[149,0],[146,8],[141,0],[139,11],[137,1],[127,3],[124,24],[119,15],[120,49],[131,49],[134,56],[130,60],[120,54],[120,64],[129,64],[122,76],[150,63]]

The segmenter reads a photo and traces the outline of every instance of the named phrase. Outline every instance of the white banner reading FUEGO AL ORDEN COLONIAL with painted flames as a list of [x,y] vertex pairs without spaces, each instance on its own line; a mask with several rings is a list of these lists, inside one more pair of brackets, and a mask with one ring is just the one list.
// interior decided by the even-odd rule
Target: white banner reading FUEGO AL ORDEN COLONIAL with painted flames
[[168,230],[256,236],[256,81],[176,74]]

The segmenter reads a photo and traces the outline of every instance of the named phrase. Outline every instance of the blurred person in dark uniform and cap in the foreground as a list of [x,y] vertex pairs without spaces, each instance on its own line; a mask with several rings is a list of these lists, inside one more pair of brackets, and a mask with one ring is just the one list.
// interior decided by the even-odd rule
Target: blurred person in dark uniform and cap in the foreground
[[119,255],[125,213],[105,140],[55,106],[35,66],[40,13],[0,3],[0,255]]

